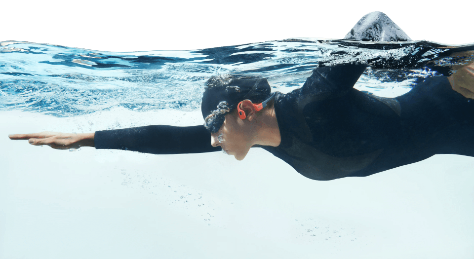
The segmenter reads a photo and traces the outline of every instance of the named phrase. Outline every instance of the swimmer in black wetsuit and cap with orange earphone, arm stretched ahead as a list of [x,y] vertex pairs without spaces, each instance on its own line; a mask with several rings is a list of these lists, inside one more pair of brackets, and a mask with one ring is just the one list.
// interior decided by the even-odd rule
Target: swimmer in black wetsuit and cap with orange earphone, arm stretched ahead
[[200,126],[9,137],[57,149],[95,147],[154,154],[222,150],[237,160],[258,147],[319,181],[365,177],[435,154],[474,156],[472,64],[449,77],[427,78],[395,98],[353,88],[366,67],[318,65],[301,88],[287,94],[272,93],[264,78],[213,76],[203,94]]

